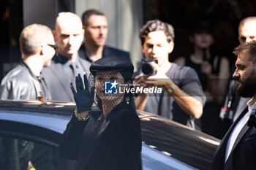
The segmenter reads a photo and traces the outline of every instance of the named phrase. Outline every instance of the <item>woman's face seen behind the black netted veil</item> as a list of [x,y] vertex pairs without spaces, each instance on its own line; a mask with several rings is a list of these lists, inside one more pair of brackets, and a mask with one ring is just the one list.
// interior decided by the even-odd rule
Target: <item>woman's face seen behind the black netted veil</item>
[[95,93],[103,103],[105,101],[116,103],[115,101],[121,101],[124,98],[124,93],[119,93],[118,91],[119,85],[124,85],[124,78],[120,72],[97,72],[95,77]]

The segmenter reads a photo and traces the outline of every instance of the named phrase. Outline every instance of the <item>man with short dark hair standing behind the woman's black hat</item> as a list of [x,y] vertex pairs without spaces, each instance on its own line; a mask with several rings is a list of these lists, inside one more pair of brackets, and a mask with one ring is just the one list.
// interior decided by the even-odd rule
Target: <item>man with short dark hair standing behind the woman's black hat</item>
[[108,21],[103,12],[89,9],[82,15],[85,29],[85,42],[81,45],[79,55],[89,62],[111,55],[124,56],[128,59],[129,53],[105,45],[108,36]]

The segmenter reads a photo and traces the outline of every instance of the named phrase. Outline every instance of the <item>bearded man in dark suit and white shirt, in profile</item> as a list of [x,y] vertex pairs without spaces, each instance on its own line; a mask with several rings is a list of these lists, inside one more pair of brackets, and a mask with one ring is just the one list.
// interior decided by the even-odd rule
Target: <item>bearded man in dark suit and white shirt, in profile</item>
[[252,109],[256,109],[256,41],[239,45],[234,53],[237,55],[233,74],[238,80],[236,93],[251,100],[222,139],[212,169],[256,169],[256,128],[247,125]]

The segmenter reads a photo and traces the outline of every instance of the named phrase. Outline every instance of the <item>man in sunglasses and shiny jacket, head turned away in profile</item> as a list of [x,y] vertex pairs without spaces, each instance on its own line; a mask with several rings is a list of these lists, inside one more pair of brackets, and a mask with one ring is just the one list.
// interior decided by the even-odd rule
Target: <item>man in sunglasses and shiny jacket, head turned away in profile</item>
[[1,81],[0,99],[36,100],[40,93],[45,99],[50,99],[41,76],[42,68],[50,66],[55,54],[50,28],[40,24],[24,28],[20,34],[20,52],[22,61]]

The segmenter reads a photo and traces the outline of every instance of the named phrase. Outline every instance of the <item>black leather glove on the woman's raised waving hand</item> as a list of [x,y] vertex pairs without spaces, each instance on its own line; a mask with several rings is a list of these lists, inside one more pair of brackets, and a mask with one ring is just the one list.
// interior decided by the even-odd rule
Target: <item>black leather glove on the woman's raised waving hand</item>
[[[83,80],[84,80],[84,87],[83,87]],[[78,108],[78,113],[85,112],[85,111],[91,111],[91,106],[94,103],[94,90],[95,88],[91,88],[91,94],[89,92],[89,83],[86,77],[86,74],[83,75],[83,80],[80,74],[75,77],[75,84],[77,87],[77,92],[75,91],[75,88],[72,85],[72,82],[70,83],[72,93],[74,94],[75,104]]]

